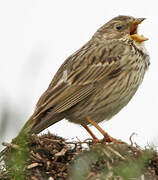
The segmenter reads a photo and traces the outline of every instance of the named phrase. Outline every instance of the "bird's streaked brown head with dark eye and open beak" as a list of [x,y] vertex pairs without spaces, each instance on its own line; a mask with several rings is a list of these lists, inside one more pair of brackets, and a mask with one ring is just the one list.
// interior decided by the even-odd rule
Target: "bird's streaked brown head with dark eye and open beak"
[[145,18],[133,18],[131,16],[117,16],[104,24],[94,36],[103,39],[121,39],[128,37],[136,42],[144,42],[148,40],[142,35],[138,35],[138,25]]

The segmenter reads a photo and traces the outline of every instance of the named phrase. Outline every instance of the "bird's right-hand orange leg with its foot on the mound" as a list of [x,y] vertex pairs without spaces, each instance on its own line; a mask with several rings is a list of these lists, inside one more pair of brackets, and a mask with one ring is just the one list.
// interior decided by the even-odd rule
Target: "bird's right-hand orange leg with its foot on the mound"
[[92,124],[95,128],[98,129],[98,131],[104,136],[103,140],[105,140],[106,142],[109,142],[109,143],[116,142],[116,143],[124,144],[124,142],[114,139],[111,136],[109,136],[108,133],[106,133],[93,119],[87,117],[87,120],[90,124]]

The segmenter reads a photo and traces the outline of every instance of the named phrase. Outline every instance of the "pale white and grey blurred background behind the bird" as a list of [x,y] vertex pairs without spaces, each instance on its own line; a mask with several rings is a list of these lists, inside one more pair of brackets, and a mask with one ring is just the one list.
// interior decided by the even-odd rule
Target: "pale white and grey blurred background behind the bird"
[[[147,18],[139,33],[149,38],[151,66],[129,105],[101,126],[127,142],[135,132],[138,144],[158,144],[158,11],[154,0],[0,1],[0,143],[17,135],[61,63],[117,15]],[[69,139],[89,137],[80,126],[66,121],[49,131]]]

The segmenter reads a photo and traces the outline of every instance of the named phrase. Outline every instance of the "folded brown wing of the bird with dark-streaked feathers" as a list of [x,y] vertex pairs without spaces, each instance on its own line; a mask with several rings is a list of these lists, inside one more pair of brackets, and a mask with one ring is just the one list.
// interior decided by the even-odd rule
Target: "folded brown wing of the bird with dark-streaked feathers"
[[39,99],[34,116],[50,110],[53,114],[63,112],[91,95],[101,79],[119,72],[123,52],[118,43],[83,46],[59,68]]

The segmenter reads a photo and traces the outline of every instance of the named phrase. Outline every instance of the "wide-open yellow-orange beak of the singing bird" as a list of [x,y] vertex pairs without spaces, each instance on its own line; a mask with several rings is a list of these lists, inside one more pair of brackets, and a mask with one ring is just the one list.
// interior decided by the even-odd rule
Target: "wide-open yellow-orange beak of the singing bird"
[[145,18],[137,18],[131,23],[129,34],[131,38],[136,42],[143,42],[148,40],[148,38],[144,37],[143,35],[137,34],[138,25],[141,24],[141,22],[144,20]]

